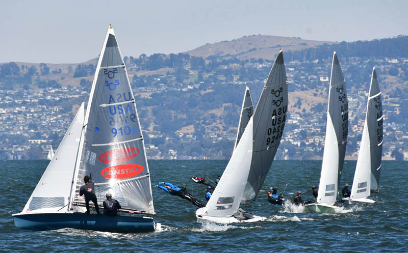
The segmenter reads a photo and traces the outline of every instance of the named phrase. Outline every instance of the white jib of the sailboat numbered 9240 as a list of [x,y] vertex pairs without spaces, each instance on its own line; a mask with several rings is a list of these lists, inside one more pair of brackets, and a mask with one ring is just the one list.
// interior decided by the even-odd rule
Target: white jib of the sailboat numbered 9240
[[252,130],[251,118],[203,214],[230,217],[238,211],[251,165]]

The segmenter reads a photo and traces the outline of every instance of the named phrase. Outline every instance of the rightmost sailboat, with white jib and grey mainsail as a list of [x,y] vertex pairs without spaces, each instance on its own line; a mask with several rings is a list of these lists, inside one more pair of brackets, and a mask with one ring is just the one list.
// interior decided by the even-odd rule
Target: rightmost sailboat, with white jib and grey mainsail
[[355,167],[350,198],[344,198],[349,204],[375,203],[369,199],[370,188],[378,191],[379,173],[382,156],[382,105],[375,68],[371,75],[370,91],[367,102],[367,114],[360,143],[359,157]]

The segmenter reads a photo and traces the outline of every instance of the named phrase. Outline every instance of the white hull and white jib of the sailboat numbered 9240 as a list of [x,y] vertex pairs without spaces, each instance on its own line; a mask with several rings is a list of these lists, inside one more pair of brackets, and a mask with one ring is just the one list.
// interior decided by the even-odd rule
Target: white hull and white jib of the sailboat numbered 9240
[[239,208],[251,165],[252,131],[251,118],[210,200],[205,207],[195,212],[198,222],[211,221],[226,224],[266,219]]

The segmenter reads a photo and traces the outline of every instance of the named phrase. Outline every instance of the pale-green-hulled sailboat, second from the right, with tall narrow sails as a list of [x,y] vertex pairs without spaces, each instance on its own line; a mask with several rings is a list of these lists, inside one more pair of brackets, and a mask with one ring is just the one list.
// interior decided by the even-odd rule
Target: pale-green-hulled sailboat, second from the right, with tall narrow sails
[[336,51],[333,53],[328,92],[326,136],[316,203],[304,206],[307,212],[335,212],[334,204],[343,170],[348,133],[346,81]]

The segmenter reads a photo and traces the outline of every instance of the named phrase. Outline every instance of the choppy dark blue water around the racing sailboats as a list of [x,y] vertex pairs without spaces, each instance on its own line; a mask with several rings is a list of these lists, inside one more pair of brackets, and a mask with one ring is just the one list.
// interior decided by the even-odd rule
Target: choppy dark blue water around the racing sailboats
[[[303,200],[312,199],[318,185],[321,161],[274,161],[262,192],[246,211],[268,217],[246,224],[201,224],[196,207],[159,188],[153,188],[162,232],[115,234],[74,229],[31,232],[14,226],[11,214],[20,212],[37,185],[48,161],[3,161],[0,205],[2,252],[408,252],[408,193],[406,161],[384,161],[380,193],[374,205],[339,208],[334,214],[303,213],[302,207],[268,203],[269,187],[290,198],[297,190]],[[152,183],[168,181],[184,186],[192,175],[215,180],[227,161],[150,160]],[[351,185],[355,161],[344,164],[342,184]],[[189,182],[189,192],[204,200],[205,186]],[[86,247],[86,248],[85,248]]]

